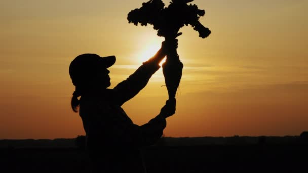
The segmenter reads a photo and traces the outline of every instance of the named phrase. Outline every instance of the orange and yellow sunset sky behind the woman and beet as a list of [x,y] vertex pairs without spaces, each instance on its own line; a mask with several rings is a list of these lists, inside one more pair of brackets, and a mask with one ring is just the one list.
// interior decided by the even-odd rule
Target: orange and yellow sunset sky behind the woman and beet
[[[115,55],[111,87],[153,56],[163,37],[127,14],[146,0],[0,1],[0,139],[85,135],[70,108],[68,66],[78,55]],[[166,6],[169,1],[164,1]],[[167,137],[285,136],[308,131],[308,1],[195,0],[212,31],[181,28],[184,64]],[[168,98],[162,69],[123,105],[134,123]]]

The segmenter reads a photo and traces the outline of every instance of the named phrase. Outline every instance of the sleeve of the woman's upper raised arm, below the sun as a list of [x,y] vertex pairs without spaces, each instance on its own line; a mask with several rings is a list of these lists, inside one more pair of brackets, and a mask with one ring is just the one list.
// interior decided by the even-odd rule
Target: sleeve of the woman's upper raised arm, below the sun
[[147,61],[144,62],[133,74],[131,74],[126,80],[120,82],[114,87],[115,102],[121,106],[126,101],[135,97],[140,90],[144,88],[148,80],[158,69],[160,65]]

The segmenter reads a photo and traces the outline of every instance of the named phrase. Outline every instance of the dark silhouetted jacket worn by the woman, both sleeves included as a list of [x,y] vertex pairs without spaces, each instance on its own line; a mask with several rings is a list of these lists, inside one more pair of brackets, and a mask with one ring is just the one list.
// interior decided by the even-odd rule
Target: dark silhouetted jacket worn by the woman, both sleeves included
[[87,137],[93,172],[146,172],[140,148],[163,135],[166,119],[160,115],[136,125],[121,106],[144,88],[160,66],[143,63],[113,89],[80,100],[80,116]]

